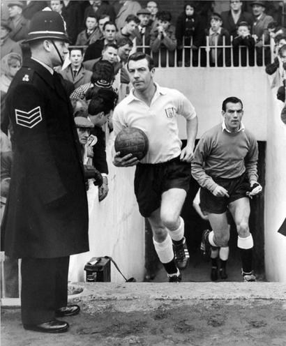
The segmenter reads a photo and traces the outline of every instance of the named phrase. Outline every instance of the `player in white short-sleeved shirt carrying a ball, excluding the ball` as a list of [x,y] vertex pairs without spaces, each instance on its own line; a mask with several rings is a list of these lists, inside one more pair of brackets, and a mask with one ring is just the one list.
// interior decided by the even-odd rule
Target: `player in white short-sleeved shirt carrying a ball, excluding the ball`
[[[137,165],[134,185],[140,213],[149,220],[156,253],[169,281],[178,283],[180,270],[189,260],[180,213],[189,187],[197,115],[181,92],[153,81],[155,68],[149,55],[136,52],[127,66],[133,89],[114,110],[114,135],[123,128],[139,128],[148,137],[149,150],[142,160],[132,153],[121,156],[118,151],[113,163],[116,167]],[[177,124],[180,115],[186,119],[188,137],[183,149]]]

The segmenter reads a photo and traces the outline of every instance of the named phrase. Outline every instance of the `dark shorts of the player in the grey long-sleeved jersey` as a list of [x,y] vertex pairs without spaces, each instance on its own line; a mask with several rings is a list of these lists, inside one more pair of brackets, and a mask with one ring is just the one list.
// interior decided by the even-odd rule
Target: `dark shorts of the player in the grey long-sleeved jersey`
[[216,197],[211,191],[206,188],[201,188],[200,207],[202,211],[208,213],[225,213],[229,203],[246,197],[246,192],[250,190],[250,184],[246,179],[246,174],[234,179],[213,178],[213,181],[223,186],[228,191],[229,197]]

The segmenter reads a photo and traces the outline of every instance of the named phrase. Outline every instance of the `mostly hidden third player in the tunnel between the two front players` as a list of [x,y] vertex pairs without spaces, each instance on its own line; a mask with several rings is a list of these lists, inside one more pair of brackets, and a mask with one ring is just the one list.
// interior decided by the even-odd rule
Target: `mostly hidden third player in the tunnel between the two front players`
[[[197,195],[195,195],[195,199],[193,200],[193,207],[195,211],[200,215],[200,217],[203,220],[209,221],[208,216],[202,209],[200,208],[200,188],[197,191]],[[211,225],[209,224],[209,228]],[[206,254],[205,251],[206,249],[202,246],[201,244],[201,250],[203,251],[204,255],[209,256],[209,254]],[[226,265],[227,265],[227,260],[228,260],[228,255],[229,255],[229,247],[225,246],[222,248],[214,248],[211,246],[211,281],[216,281],[218,280],[218,264],[220,266],[219,269],[219,274],[220,278],[225,280],[227,279],[227,271],[226,271]],[[220,259],[220,262],[218,263],[218,257]]]

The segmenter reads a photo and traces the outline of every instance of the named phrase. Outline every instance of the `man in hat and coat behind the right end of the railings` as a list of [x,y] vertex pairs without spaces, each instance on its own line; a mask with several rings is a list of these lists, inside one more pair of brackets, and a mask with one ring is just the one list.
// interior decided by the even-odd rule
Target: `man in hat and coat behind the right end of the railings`
[[[262,66],[262,57],[263,57],[263,45],[268,45],[270,42],[269,31],[267,29],[268,24],[273,22],[273,17],[266,15],[265,1],[253,1],[251,3],[253,9],[253,15],[255,17],[253,23],[253,37],[255,38],[256,54],[257,54],[257,65]],[[271,60],[271,54],[269,49],[264,49],[264,63],[269,63]]]

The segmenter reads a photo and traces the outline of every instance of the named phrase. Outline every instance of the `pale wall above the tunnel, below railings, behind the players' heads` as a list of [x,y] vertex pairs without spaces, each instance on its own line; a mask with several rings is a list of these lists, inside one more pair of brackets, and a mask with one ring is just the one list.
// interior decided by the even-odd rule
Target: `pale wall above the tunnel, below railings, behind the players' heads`
[[[221,121],[221,105],[229,96],[243,101],[243,122],[257,140],[266,140],[267,95],[264,68],[161,68],[155,80],[182,91],[199,117],[197,137]],[[257,92],[255,92],[257,90]],[[181,138],[186,139],[185,120],[179,118]]]

